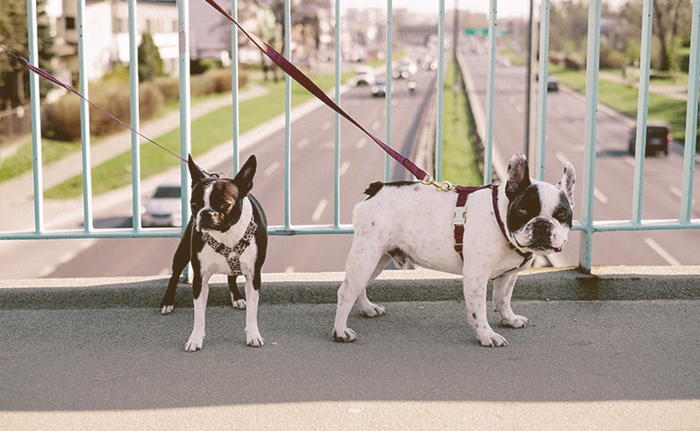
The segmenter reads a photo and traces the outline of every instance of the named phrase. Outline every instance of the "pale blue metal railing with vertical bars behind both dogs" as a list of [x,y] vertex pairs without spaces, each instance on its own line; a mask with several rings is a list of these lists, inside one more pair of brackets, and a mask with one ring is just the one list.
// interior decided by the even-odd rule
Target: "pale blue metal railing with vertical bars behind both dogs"
[[[190,114],[191,101],[189,89],[189,17],[188,8],[190,1],[198,0],[179,0],[178,15],[179,15],[179,125],[180,125],[180,154],[188,154],[190,152]],[[540,37],[539,37],[539,52],[548,52],[549,42],[549,4],[548,0],[543,0],[539,8],[540,16]],[[29,34],[29,51],[31,64],[38,64],[38,46],[37,46],[37,9],[36,1],[28,0],[28,34]],[[285,2],[284,7],[284,23],[285,28],[291,29],[291,5],[290,1]],[[595,184],[595,168],[596,168],[596,125],[598,116],[598,88],[599,88],[599,48],[600,48],[600,22],[601,22],[601,0],[591,0],[589,8],[589,31],[588,31],[588,53],[586,65],[586,112],[585,112],[585,136],[584,141],[584,165],[582,169],[582,180],[579,181],[579,188],[582,189],[582,216],[579,220],[574,221],[573,228],[582,232],[582,245],[579,254],[579,264],[583,270],[591,269],[591,253],[592,253],[592,237],[594,233],[612,232],[612,231],[630,231],[630,230],[665,230],[665,229],[697,229],[700,228],[700,220],[691,217],[691,206],[694,188],[694,172],[695,172],[695,153],[696,153],[696,129],[697,129],[697,110],[698,110],[698,80],[689,79],[687,88],[687,119],[686,119],[686,142],[684,153],[684,175],[681,189],[681,207],[680,214],[677,219],[643,219],[642,204],[643,204],[643,172],[644,172],[644,145],[646,133],[646,106],[649,98],[649,77],[650,77],[650,57],[652,52],[652,0],[643,0],[643,31],[641,40],[641,74],[639,79],[639,100],[638,100],[638,116],[637,123],[642,127],[637,128],[636,136],[636,152],[634,159],[634,205],[632,215],[629,219],[620,220],[594,220],[593,219],[593,202],[594,202],[594,184]],[[492,169],[489,167],[493,163],[494,145],[494,67],[496,61],[495,47],[497,41],[497,15],[498,5],[496,0],[490,1],[489,13],[489,71],[486,88],[486,118],[485,128],[481,130],[483,143],[485,147],[485,174],[484,182],[491,182]],[[130,52],[130,92],[131,92],[131,125],[138,130],[139,115],[138,115],[138,75],[137,75],[137,47],[136,47],[136,0],[128,0],[128,27],[129,27],[129,52]],[[438,40],[440,52],[445,51],[445,41],[450,39],[445,31],[445,2],[440,0],[438,8]],[[237,0],[232,0],[232,15],[236,18],[238,4]],[[391,0],[387,0],[387,10],[392,11],[393,5]],[[388,13],[387,17],[387,45],[386,57],[392,56],[392,38],[393,33],[393,17],[392,13]],[[80,69],[79,91],[88,96],[88,83],[86,80],[86,65],[89,59],[83,53],[83,47],[86,41],[83,39],[83,22],[86,22],[85,0],[77,2],[77,17],[76,28],[78,29],[78,59]],[[340,2],[335,2],[335,40],[341,40],[341,9]],[[234,106],[232,125],[232,152],[234,154],[233,168],[234,172],[238,170],[239,160],[239,119],[237,116],[237,107],[239,103],[238,80],[239,80],[239,64],[238,57],[238,38],[236,31],[232,32],[232,103]],[[291,39],[289,31],[284,35],[284,56],[291,57],[290,47]],[[341,52],[340,43],[336,43],[335,50],[335,100],[340,100],[340,62]],[[689,76],[700,76],[700,0],[693,1],[693,16],[692,16],[692,36],[691,36],[691,55],[689,65]],[[534,175],[538,179],[544,178],[544,166],[547,156],[546,149],[546,129],[547,129],[547,75],[548,75],[548,59],[547,56],[541,56],[538,65],[538,99],[537,99],[537,119],[535,121],[537,127],[535,145],[534,145],[534,163],[537,169]],[[446,56],[440,56],[438,62],[438,83],[435,89],[436,106],[436,133],[435,141],[438,143],[435,147],[435,179],[442,180],[442,101],[443,101],[443,76],[445,70]],[[389,131],[392,128],[391,124],[391,64],[390,61],[386,64],[387,75],[387,121],[386,121],[386,136],[390,136]],[[286,78],[286,98],[289,101],[291,97],[291,78]],[[50,231],[45,227],[44,209],[43,209],[43,190],[42,190],[42,157],[41,157],[41,133],[40,133],[40,110],[39,110],[39,77],[37,75],[30,76],[31,87],[31,124],[32,130],[32,147],[34,152],[34,230],[31,232],[4,232],[0,233],[0,240],[19,240],[19,239],[50,239],[50,238],[107,238],[107,237],[153,237],[153,236],[179,236],[180,229],[142,229],[141,228],[141,202],[140,202],[140,160],[139,160],[139,136],[136,132],[131,135],[132,149],[132,203],[133,227],[123,229],[95,229],[92,223],[92,178],[91,178],[91,138],[89,132],[89,110],[86,102],[81,103],[81,119],[82,119],[82,160],[83,160],[83,230],[72,231]],[[285,107],[285,125],[286,134],[284,139],[285,152],[285,168],[289,172],[290,155],[291,155],[291,139],[289,134],[291,119],[291,103],[287,102]],[[270,226],[269,233],[284,235],[284,234],[324,234],[324,233],[351,233],[352,226],[342,225],[339,223],[339,177],[340,177],[340,161],[339,161],[339,128],[340,117],[336,115],[335,121],[335,174],[334,174],[334,223],[331,226],[317,225],[293,225],[290,217],[290,187],[289,177],[284,186],[285,200],[285,215],[284,225]],[[390,145],[390,142],[388,142]],[[389,179],[389,157],[386,161],[386,178]],[[184,163],[180,168],[180,179],[183,185],[188,184],[188,172]],[[182,214],[186,219],[188,216],[188,187],[183,187],[185,192],[182,199]]]

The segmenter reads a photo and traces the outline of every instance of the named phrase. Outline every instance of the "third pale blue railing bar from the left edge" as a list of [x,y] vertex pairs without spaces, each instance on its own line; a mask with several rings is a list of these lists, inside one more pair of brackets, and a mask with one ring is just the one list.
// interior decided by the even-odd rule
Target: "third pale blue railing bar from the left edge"
[[131,127],[131,216],[132,228],[141,229],[141,151],[136,130],[140,127],[138,106],[138,47],[136,45],[136,0],[128,0],[129,95]]

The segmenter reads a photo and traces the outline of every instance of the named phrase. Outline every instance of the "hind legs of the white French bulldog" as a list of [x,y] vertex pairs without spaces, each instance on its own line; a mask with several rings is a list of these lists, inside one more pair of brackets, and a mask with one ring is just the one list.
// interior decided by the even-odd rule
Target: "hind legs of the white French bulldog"
[[371,303],[367,298],[367,285],[387,266],[389,255],[381,256],[381,251],[372,255],[372,252],[366,250],[358,251],[360,249],[363,247],[353,242],[347,257],[346,277],[337,289],[336,321],[333,325],[333,339],[336,341],[349,343],[357,338],[354,330],[347,327],[347,318],[355,301],[359,302],[365,316],[374,317],[384,313],[384,307]]

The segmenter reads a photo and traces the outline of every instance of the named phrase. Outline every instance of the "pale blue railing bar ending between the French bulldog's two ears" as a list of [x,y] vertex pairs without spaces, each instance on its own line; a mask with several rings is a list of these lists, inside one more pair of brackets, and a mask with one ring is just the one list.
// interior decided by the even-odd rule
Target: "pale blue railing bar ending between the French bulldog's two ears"
[[535,178],[545,179],[547,147],[547,81],[549,80],[549,0],[539,11],[538,119],[535,138]]

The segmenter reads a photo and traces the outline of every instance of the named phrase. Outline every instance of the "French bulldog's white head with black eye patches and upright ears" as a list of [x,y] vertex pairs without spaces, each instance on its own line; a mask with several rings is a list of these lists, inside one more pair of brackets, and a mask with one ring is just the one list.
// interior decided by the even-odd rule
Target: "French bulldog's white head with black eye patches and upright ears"
[[564,177],[554,186],[530,180],[525,157],[512,157],[506,184],[506,224],[516,246],[540,255],[562,251],[573,220],[574,182],[571,163],[566,163]]

